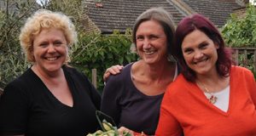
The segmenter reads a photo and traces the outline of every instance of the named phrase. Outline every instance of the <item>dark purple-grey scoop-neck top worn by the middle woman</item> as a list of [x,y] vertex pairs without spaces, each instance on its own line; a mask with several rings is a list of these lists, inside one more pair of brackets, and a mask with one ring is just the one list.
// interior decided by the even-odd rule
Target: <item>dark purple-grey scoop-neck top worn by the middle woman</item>
[[112,116],[118,127],[153,135],[164,94],[148,96],[141,93],[131,81],[131,65],[133,63],[126,65],[120,74],[108,78],[101,110]]

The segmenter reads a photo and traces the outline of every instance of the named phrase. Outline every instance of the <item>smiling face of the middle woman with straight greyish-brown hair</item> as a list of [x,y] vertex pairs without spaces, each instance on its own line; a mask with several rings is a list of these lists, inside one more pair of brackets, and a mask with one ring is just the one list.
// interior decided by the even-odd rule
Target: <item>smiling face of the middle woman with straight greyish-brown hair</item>
[[155,20],[144,21],[136,32],[137,53],[147,64],[167,59],[166,33]]

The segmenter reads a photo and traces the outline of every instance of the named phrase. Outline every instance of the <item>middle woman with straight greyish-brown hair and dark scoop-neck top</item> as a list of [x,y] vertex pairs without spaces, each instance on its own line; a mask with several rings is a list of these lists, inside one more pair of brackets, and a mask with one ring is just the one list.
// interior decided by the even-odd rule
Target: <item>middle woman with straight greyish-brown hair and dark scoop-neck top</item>
[[137,18],[132,39],[141,59],[110,76],[102,94],[101,110],[118,127],[154,134],[166,87],[177,77],[177,64],[169,59],[173,34],[163,8],[149,8]]

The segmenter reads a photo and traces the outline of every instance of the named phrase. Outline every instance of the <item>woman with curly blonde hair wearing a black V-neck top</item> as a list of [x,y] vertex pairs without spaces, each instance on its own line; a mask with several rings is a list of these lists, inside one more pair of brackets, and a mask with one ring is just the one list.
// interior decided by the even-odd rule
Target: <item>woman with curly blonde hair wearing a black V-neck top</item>
[[4,89],[0,135],[84,135],[98,128],[101,96],[79,71],[67,66],[77,42],[65,14],[40,9],[26,20],[20,45],[30,67]]

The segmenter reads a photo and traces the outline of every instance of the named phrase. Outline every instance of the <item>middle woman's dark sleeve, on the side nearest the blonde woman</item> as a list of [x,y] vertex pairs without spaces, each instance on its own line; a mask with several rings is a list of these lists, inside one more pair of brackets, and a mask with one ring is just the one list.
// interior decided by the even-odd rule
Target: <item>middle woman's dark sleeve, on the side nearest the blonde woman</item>
[[102,94],[102,106],[101,111],[108,116],[113,117],[113,121],[119,125],[120,106],[119,106],[119,94],[120,94],[120,80],[115,76],[110,76],[108,82],[104,87]]

